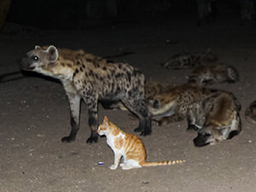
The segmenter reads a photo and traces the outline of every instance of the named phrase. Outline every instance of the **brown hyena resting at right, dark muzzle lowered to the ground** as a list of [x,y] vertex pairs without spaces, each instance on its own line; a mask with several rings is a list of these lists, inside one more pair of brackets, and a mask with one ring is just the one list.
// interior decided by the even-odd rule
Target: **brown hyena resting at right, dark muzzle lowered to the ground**
[[188,129],[198,131],[196,147],[230,139],[241,131],[240,103],[232,93],[222,92],[195,102],[187,112]]

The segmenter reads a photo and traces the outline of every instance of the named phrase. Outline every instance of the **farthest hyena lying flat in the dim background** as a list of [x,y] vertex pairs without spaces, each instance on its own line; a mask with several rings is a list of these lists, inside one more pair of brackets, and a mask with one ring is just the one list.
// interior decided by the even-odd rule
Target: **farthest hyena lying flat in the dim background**
[[212,51],[208,49],[206,52],[173,55],[170,60],[162,63],[161,66],[172,69],[184,69],[200,66],[205,62],[215,61],[218,61],[217,55],[212,54]]

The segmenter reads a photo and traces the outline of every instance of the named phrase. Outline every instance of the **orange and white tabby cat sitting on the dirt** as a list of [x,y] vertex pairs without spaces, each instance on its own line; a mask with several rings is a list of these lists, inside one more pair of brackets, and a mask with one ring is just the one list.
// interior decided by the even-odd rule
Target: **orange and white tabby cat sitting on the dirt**
[[184,160],[146,162],[147,154],[142,140],[135,135],[121,131],[116,125],[108,121],[106,116],[103,123],[99,125],[97,133],[100,136],[105,135],[107,137],[107,143],[113,150],[114,164],[110,166],[112,170],[119,166],[119,160],[122,156],[124,162],[120,166],[123,170],[142,166],[166,166],[184,162]]

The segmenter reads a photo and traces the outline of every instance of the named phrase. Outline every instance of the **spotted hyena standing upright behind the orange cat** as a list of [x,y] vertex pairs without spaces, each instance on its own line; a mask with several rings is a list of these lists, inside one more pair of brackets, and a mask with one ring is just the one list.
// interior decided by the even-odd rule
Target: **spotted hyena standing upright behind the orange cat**
[[72,130],[62,142],[73,142],[79,131],[81,98],[89,110],[91,134],[87,143],[97,142],[98,101],[123,102],[139,118],[135,131],[141,131],[143,136],[151,133],[151,119],[143,99],[144,75],[126,63],[108,63],[81,49],[56,49],[50,45],[29,51],[21,61],[21,69],[48,75],[63,84],[70,104]]

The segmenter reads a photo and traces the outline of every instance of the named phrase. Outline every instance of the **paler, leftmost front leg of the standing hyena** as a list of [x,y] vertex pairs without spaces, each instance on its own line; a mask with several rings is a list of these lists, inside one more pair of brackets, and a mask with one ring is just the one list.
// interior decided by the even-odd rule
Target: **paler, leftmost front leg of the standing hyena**
[[70,105],[70,124],[71,124],[71,132],[68,137],[63,137],[61,142],[63,143],[71,143],[75,140],[76,135],[79,131],[79,119],[80,119],[80,96],[67,93],[69,105]]

